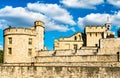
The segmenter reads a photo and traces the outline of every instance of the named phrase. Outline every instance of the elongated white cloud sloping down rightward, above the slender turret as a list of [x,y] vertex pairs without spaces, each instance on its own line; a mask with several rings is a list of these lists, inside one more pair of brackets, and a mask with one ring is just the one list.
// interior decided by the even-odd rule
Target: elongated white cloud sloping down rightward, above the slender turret
[[29,3],[27,7],[32,11],[37,11],[45,14],[46,16],[48,16],[51,19],[54,19],[55,21],[75,25],[73,17],[69,14],[69,12],[61,8],[57,4]]

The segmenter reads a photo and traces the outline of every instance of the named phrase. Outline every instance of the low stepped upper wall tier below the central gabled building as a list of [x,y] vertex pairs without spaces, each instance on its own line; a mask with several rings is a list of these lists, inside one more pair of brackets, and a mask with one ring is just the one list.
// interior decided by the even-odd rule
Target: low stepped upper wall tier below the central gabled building
[[80,49],[77,50],[55,50],[55,51],[40,51],[38,52],[37,56],[52,56],[55,55],[93,55],[96,52],[96,49]]

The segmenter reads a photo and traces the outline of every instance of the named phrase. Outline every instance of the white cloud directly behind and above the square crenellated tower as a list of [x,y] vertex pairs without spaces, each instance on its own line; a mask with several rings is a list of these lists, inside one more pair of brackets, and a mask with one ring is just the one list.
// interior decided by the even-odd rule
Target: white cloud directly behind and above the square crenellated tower
[[84,28],[86,25],[104,25],[107,22],[107,17],[110,17],[110,22],[115,26],[120,26],[120,11],[110,15],[110,14],[100,14],[100,13],[91,13],[85,17],[78,18],[79,28]]

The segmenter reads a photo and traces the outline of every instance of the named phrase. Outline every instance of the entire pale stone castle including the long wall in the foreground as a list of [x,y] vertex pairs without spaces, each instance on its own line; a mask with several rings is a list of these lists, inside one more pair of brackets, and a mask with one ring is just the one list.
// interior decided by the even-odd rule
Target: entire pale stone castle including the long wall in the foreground
[[102,26],[86,26],[85,32],[55,39],[54,50],[44,46],[44,23],[30,28],[4,30],[2,78],[119,78],[120,38]]

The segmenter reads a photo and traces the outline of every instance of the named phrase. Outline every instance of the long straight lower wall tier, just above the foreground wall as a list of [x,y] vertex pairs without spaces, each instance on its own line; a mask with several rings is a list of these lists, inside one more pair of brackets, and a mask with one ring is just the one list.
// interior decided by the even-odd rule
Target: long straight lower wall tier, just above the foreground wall
[[37,62],[115,62],[118,61],[116,55],[69,55],[69,56],[39,56]]

